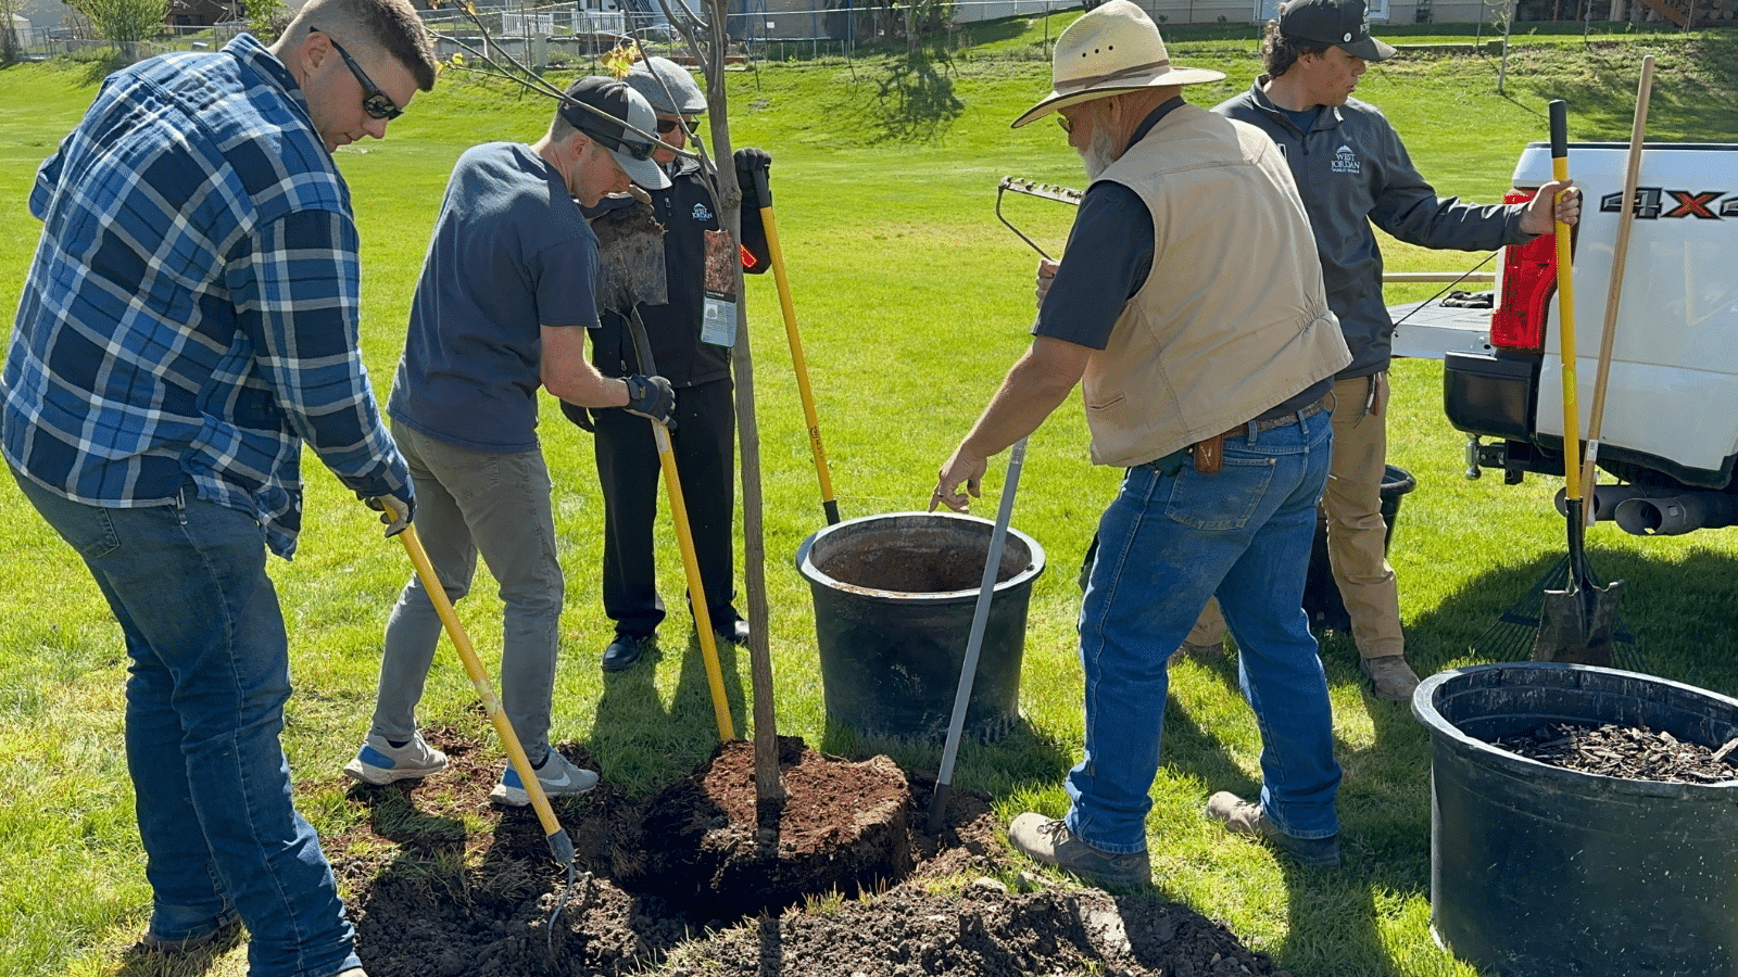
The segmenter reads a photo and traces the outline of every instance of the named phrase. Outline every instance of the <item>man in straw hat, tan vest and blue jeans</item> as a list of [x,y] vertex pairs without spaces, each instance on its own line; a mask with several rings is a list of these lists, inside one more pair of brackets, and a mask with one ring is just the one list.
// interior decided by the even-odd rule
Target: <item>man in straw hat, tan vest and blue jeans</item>
[[[1036,429],[1078,382],[1097,464],[1124,468],[1098,522],[1079,617],[1086,756],[1067,817],[1008,836],[1098,883],[1147,885],[1147,793],[1166,664],[1218,595],[1246,648],[1262,728],[1260,803],[1210,810],[1305,864],[1335,866],[1340,767],[1328,680],[1302,610],[1328,478],[1328,391],[1350,362],[1328,311],[1309,217],[1260,130],[1182,99],[1224,78],[1173,68],[1140,7],[1109,0],[1057,40],[1046,115],[1091,176],[1031,349],[940,468],[932,497],[965,511],[989,455]],[[1234,269],[1264,269],[1262,287]],[[1229,796],[1229,794],[1227,794]]]

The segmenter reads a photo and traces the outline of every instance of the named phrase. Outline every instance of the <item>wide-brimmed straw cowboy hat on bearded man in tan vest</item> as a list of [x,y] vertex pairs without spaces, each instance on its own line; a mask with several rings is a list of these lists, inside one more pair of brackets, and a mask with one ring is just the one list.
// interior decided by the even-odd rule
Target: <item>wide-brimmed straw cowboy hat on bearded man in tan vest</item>
[[1107,0],[1057,38],[1051,78],[1055,90],[1050,97],[1015,118],[1013,129],[1085,101],[1140,89],[1222,82],[1225,73],[1171,68],[1171,56],[1152,17],[1128,0]]

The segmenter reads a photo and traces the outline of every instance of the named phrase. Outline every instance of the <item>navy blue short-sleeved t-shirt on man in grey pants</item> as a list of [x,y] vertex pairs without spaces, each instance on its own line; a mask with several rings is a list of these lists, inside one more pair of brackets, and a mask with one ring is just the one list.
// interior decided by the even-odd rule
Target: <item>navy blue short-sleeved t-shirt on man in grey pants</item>
[[388,414],[480,452],[537,447],[542,327],[598,325],[598,238],[561,174],[521,143],[454,165]]

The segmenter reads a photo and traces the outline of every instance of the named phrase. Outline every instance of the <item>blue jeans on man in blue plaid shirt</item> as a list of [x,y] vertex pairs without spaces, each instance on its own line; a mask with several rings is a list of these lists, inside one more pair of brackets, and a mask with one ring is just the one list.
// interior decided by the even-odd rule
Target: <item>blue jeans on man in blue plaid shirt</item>
[[83,556],[132,659],[132,775],[151,934],[177,940],[233,916],[252,977],[330,977],[360,961],[332,869],[290,800],[278,734],[290,655],[247,513],[193,497],[85,506],[21,476],[36,511]]

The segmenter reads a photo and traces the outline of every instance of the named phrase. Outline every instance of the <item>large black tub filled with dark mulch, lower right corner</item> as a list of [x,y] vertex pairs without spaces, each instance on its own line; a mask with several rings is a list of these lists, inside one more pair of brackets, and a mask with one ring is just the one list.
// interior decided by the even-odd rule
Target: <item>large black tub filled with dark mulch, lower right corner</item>
[[1738,737],[1738,701],[1556,662],[1444,671],[1413,695],[1430,730],[1430,927],[1503,977],[1738,974],[1738,781],[1564,770],[1491,746],[1547,723]]

